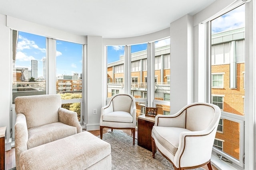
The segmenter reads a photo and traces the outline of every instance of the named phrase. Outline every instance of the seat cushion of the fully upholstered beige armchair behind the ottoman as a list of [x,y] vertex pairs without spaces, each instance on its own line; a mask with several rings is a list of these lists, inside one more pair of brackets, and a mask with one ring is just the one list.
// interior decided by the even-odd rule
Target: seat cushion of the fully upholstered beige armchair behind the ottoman
[[28,129],[28,149],[62,139],[77,133],[76,127],[61,122],[49,123]]

